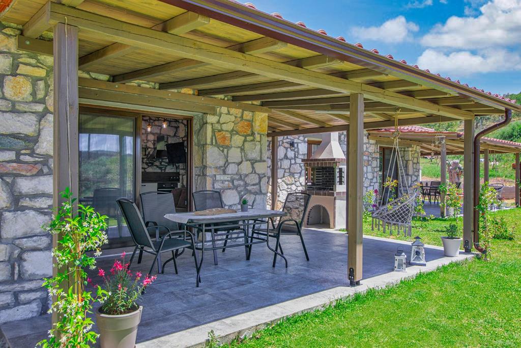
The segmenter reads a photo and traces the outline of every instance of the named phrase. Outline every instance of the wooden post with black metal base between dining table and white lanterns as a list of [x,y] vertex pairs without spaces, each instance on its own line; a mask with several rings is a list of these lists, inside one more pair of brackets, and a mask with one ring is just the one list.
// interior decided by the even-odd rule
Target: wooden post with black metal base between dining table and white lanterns
[[348,218],[348,270],[351,286],[359,285],[362,279],[362,189],[364,155],[364,95],[350,95],[349,125],[349,189],[346,202]]

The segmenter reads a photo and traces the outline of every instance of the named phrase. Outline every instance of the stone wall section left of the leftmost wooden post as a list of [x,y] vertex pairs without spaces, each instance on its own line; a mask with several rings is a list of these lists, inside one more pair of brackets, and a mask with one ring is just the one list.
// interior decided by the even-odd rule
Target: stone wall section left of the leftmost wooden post
[[53,59],[16,51],[0,25],[0,323],[44,313],[51,275]]

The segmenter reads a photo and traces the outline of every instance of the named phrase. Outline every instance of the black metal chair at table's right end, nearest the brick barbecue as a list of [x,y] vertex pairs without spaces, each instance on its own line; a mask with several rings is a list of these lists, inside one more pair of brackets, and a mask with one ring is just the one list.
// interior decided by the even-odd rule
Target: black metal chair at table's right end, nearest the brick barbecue
[[[302,243],[302,248],[304,249],[304,254],[306,255],[306,260],[309,261],[306,245],[304,243],[304,237],[302,236],[302,225],[304,224],[304,217],[306,216],[309,199],[311,199],[311,195],[306,193],[295,192],[288,194],[288,196],[286,196],[286,200],[284,201],[284,206],[282,206],[282,211],[288,213],[288,215],[280,218],[277,225],[275,225],[273,219],[268,219],[267,233],[266,229],[256,229],[254,226],[252,235],[258,234],[265,237],[277,238],[275,250],[278,251],[280,249],[281,254],[284,254],[284,252],[282,251],[282,246],[280,245],[280,236],[299,236]],[[271,223],[271,228],[269,228],[269,223]],[[275,254],[273,257],[273,267],[275,267],[276,262],[277,254]]]

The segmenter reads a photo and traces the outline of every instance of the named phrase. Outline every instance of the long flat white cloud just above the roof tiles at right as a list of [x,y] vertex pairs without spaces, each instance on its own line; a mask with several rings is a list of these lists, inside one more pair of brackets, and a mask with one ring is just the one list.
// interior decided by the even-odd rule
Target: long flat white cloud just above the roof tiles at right
[[521,70],[521,56],[506,50],[485,50],[480,54],[469,51],[445,54],[427,49],[418,58],[417,64],[433,73],[446,73],[457,77],[474,73]]

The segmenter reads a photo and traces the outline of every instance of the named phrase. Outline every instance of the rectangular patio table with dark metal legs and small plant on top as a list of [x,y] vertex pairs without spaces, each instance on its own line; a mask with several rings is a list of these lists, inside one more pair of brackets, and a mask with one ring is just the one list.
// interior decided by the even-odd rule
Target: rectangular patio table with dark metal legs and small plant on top
[[[180,212],[173,214],[166,214],[165,218],[171,221],[175,221],[177,223],[183,224],[187,227],[191,227],[193,230],[197,231],[198,236],[202,235],[200,240],[197,237],[197,241],[195,243],[195,249],[201,251],[201,259],[199,260],[199,264],[196,267],[197,271],[197,286],[200,283],[200,274],[201,268],[203,266],[204,252],[212,250],[214,253],[214,261],[217,264],[217,250],[224,248],[232,248],[232,247],[240,247],[244,246],[246,260],[250,259],[252,245],[254,244],[263,244],[265,243],[268,249],[273,251],[278,256],[284,259],[286,263],[286,267],[288,267],[288,260],[284,255],[279,253],[277,250],[272,248],[269,245],[269,219],[281,218],[286,216],[287,213],[279,210],[269,210],[269,209],[249,209],[248,211],[238,211],[235,213],[225,213],[225,214],[217,214],[217,215],[195,215],[193,212]],[[227,223],[226,225],[216,226],[220,223]],[[259,226],[266,225],[266,238],[261,236],[254,236],[252,233],[250,235],[250,227],[251,226]],[[237,229],[242,230],[242,236],[228,236],[222,233],[216,233],[215,230],[219,228],[225,227],[227,230]],[[256,228],[258,229],[258,228]],[[206,233],[210,233],[211,238],[206,239]],[[235,232],[234,232],[235,233]],[[243,243],[225,245],[225,246],[217,246],[216,242],[222,242],[223,239],[216,239],[215,237],[226,235],[226,239],[243,239]],[[211,246],[207,245],[210,244]],[[194,253],[196,251],[194,250]]]

